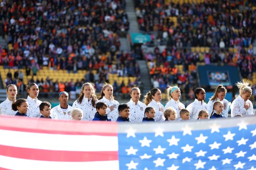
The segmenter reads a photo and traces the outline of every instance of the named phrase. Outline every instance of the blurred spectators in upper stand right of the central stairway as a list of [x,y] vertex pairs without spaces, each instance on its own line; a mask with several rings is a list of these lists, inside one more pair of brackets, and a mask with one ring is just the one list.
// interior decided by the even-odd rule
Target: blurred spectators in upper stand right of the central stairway
[[169,46],[249,47],[256,38],[252,1],[165,4],[166,0],[134,0],[141,31],[160,31]]

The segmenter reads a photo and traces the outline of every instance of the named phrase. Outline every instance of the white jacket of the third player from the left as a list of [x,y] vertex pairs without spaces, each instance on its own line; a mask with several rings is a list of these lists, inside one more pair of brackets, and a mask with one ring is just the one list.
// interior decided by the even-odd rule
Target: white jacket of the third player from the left
[[71,110],[72,106],[68,105],[68,108],[61,108],[60,104],[51,109],[51,117],[52,119],[59,120],[72,120]]

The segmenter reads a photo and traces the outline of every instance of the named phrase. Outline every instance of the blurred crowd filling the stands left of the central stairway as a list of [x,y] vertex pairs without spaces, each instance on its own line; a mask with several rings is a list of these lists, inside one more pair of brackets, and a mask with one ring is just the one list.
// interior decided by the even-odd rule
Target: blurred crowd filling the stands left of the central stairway
[[[129,29],[125,5],[125,0],[2,1],[0,32],[8,47],[0,46],[0,64],[5,69],[25,68],[27,75],[36,75],[43,66],[67,72],[98,70],[84,80],[95,82],[97,89],[110,73],[139,77],[136,55],[119,51],[119,36]],[[9,74],[6,86],[22,84],[21,74]],[[59,84],[50,79],[31,82]]]

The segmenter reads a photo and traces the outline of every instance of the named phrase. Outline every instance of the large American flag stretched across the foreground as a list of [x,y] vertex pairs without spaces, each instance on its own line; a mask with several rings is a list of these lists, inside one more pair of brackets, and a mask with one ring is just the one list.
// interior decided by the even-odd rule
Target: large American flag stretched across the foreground
[[141,124],[0,117],[0,169],[256,170],[256,117]]

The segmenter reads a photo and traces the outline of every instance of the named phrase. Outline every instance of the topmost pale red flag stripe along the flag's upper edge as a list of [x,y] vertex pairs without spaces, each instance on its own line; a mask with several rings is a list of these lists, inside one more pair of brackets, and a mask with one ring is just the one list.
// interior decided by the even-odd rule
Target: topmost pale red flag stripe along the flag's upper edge
[[48,134],[117,136],[117,123],[105,121],[78,122],[0,115],[0,129]]

